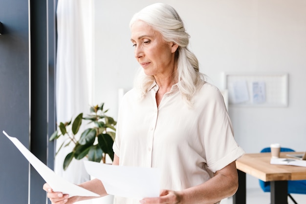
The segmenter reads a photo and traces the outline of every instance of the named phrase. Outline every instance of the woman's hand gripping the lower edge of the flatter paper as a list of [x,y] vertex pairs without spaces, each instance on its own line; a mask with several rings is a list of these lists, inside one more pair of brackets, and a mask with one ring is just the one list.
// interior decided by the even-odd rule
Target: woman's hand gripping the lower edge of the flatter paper
[[141,204],[180,204],[181,201],[182,195],[180,195],[178,191],[161,190],[159,197],[144,198],[139,202]]

